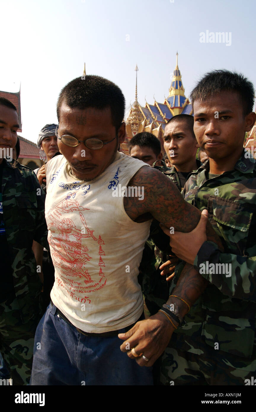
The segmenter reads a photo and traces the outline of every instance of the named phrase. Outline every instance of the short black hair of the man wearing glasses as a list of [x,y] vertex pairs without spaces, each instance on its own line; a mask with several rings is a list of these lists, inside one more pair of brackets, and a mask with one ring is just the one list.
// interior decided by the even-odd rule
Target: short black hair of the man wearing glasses
[[57,102],[58,120],[64,102],[70,108],[79,109],[92,107],[101,110],[110,107],[112,123],[116,131],[123,122],[125,110],[123,93],[116,84],[104,77],[94,75],[77,77],[63,87]]

